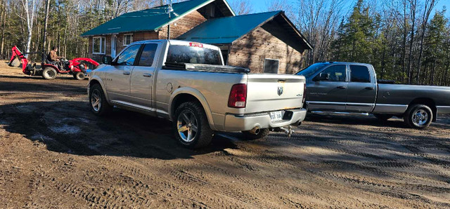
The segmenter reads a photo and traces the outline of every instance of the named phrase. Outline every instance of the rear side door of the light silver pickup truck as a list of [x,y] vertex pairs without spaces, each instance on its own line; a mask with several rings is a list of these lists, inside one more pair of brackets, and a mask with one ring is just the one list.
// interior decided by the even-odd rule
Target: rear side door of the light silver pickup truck
[[131,97],[133,103],[144,108],[152,108],[152,86],[155,78],[155,68],[158,63],[160,43],[146,43],[143,46],[139,60],[131,73]]

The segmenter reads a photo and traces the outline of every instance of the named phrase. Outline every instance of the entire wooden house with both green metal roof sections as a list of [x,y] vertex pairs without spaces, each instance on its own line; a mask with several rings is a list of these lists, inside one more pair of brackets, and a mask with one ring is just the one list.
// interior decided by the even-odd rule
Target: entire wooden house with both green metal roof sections
[[[252,72],[300,70],[311,45],[282,11],[236,16],[226,0],[191,0],[126,13],[82,34],[89,37],[89,56],[115,57],[133,41],[180,39],[219,46],[228,65]],[[169,25],[169,27],[168,27]]]

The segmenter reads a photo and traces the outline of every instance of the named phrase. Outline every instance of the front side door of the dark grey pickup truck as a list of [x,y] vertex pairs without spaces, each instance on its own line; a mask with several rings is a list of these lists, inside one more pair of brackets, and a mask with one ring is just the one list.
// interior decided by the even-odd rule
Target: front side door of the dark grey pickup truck
[[330,65],[307,84],[308,110],[344,111],[347,100],[347,66]]

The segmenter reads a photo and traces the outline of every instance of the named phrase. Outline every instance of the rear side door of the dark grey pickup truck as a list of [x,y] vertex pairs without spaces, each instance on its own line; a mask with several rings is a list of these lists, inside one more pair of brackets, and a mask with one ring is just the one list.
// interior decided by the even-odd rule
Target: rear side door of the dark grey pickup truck
[[366,65],[350,65],[346,112],[372,112],[375,107],[377,83],[374,71]]

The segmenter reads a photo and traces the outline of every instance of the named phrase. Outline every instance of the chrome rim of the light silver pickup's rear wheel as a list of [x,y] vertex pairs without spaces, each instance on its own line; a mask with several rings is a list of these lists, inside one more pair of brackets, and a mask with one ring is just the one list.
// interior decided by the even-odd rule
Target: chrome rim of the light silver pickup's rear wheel
[[181,140],[184,142],[195,140],[198,133],[198,122],[195,114],[188,109],[181,112],[176,120],[176,128]]

